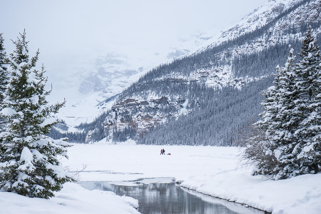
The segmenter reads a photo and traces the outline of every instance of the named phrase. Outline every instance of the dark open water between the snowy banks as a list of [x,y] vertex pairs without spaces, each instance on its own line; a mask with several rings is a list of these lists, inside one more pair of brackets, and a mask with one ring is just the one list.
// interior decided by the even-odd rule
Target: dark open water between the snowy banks
[[[89,181],[80,184],[89,190],[112,191],[138,199],[138,211],[144,214],[217,213],[217,214],[263,214],[263,211],[246,208],[240,204],[217,199],[171,183],[149,183],[149,179],[121,185],[108,181]],[[153,181],[151,181],[153,182]],[[126,182],[125,182],[126,183]],[[128,186],[132,185],[132,186]]]

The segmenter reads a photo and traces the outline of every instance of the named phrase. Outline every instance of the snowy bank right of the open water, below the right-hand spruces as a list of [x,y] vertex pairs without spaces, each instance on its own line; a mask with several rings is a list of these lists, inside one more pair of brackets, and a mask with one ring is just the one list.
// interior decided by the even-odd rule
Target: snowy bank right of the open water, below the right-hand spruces
[[321,173],[286,180],[265,180],[249,170],[176,178],[180,186],[273,214],[320,213]]

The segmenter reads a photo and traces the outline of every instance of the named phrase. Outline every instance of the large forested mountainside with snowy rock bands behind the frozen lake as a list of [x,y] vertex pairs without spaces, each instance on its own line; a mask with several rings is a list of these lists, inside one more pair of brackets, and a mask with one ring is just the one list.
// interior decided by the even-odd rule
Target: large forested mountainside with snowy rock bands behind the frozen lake
[[[288,55],[288,44],[299,49],[299,39],[308,24],[306,21],[320,35],[319,5],[321,0],[267,1],[230,31],[216,37],[223,42],[218,44],[212,42],[215,37],[199,35],[212,42],[211,48],[207,48],[208,45],[196,48],[194,54],[153,68],[137,82],[135,80],[144,71],[136,74],[131,79],[134,83],[126,90],[121,92],[121,87],[117,92],[109,90],[110,95],[118,95],[100,103],[106,97],[96,99],[99,105],[90,111],[112,109],[103,122],[103,131],[107,139],[113,141],[131,137],[140,143],[161,144],[159,139],[168,138],[171,143],[179,144],[231,145],[235,140],[233,133],[257,119],[262,99],[259,92],[272,83],[275,66],[284,63]],[[159,99],[168,102],[162,103]],[[184,117],[181,112],[189,116]],[[71,118],[70,122],[73,120]],[[162,126],[163,123],[167,125]],[[185,139],[187,135],[181,135],[186,132],[190,133],[189,139]],[[101,140],[90,136],[86,139]]]

